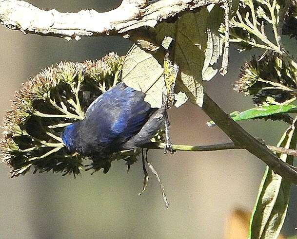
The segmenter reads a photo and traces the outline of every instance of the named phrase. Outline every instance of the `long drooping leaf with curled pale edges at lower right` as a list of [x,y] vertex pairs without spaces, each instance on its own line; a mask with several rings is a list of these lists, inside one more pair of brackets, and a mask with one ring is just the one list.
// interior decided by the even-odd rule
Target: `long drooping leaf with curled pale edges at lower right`
[[[291,125],[283,134],[277,147],[296,148],[297,123]],[[293,156],[277,154],[288,164],[293,164]],[[277,239],[286,217],[291,183],[274,173],[268,166],[260,184],[257,202],[252,214],[250,236],[254,239]]]

